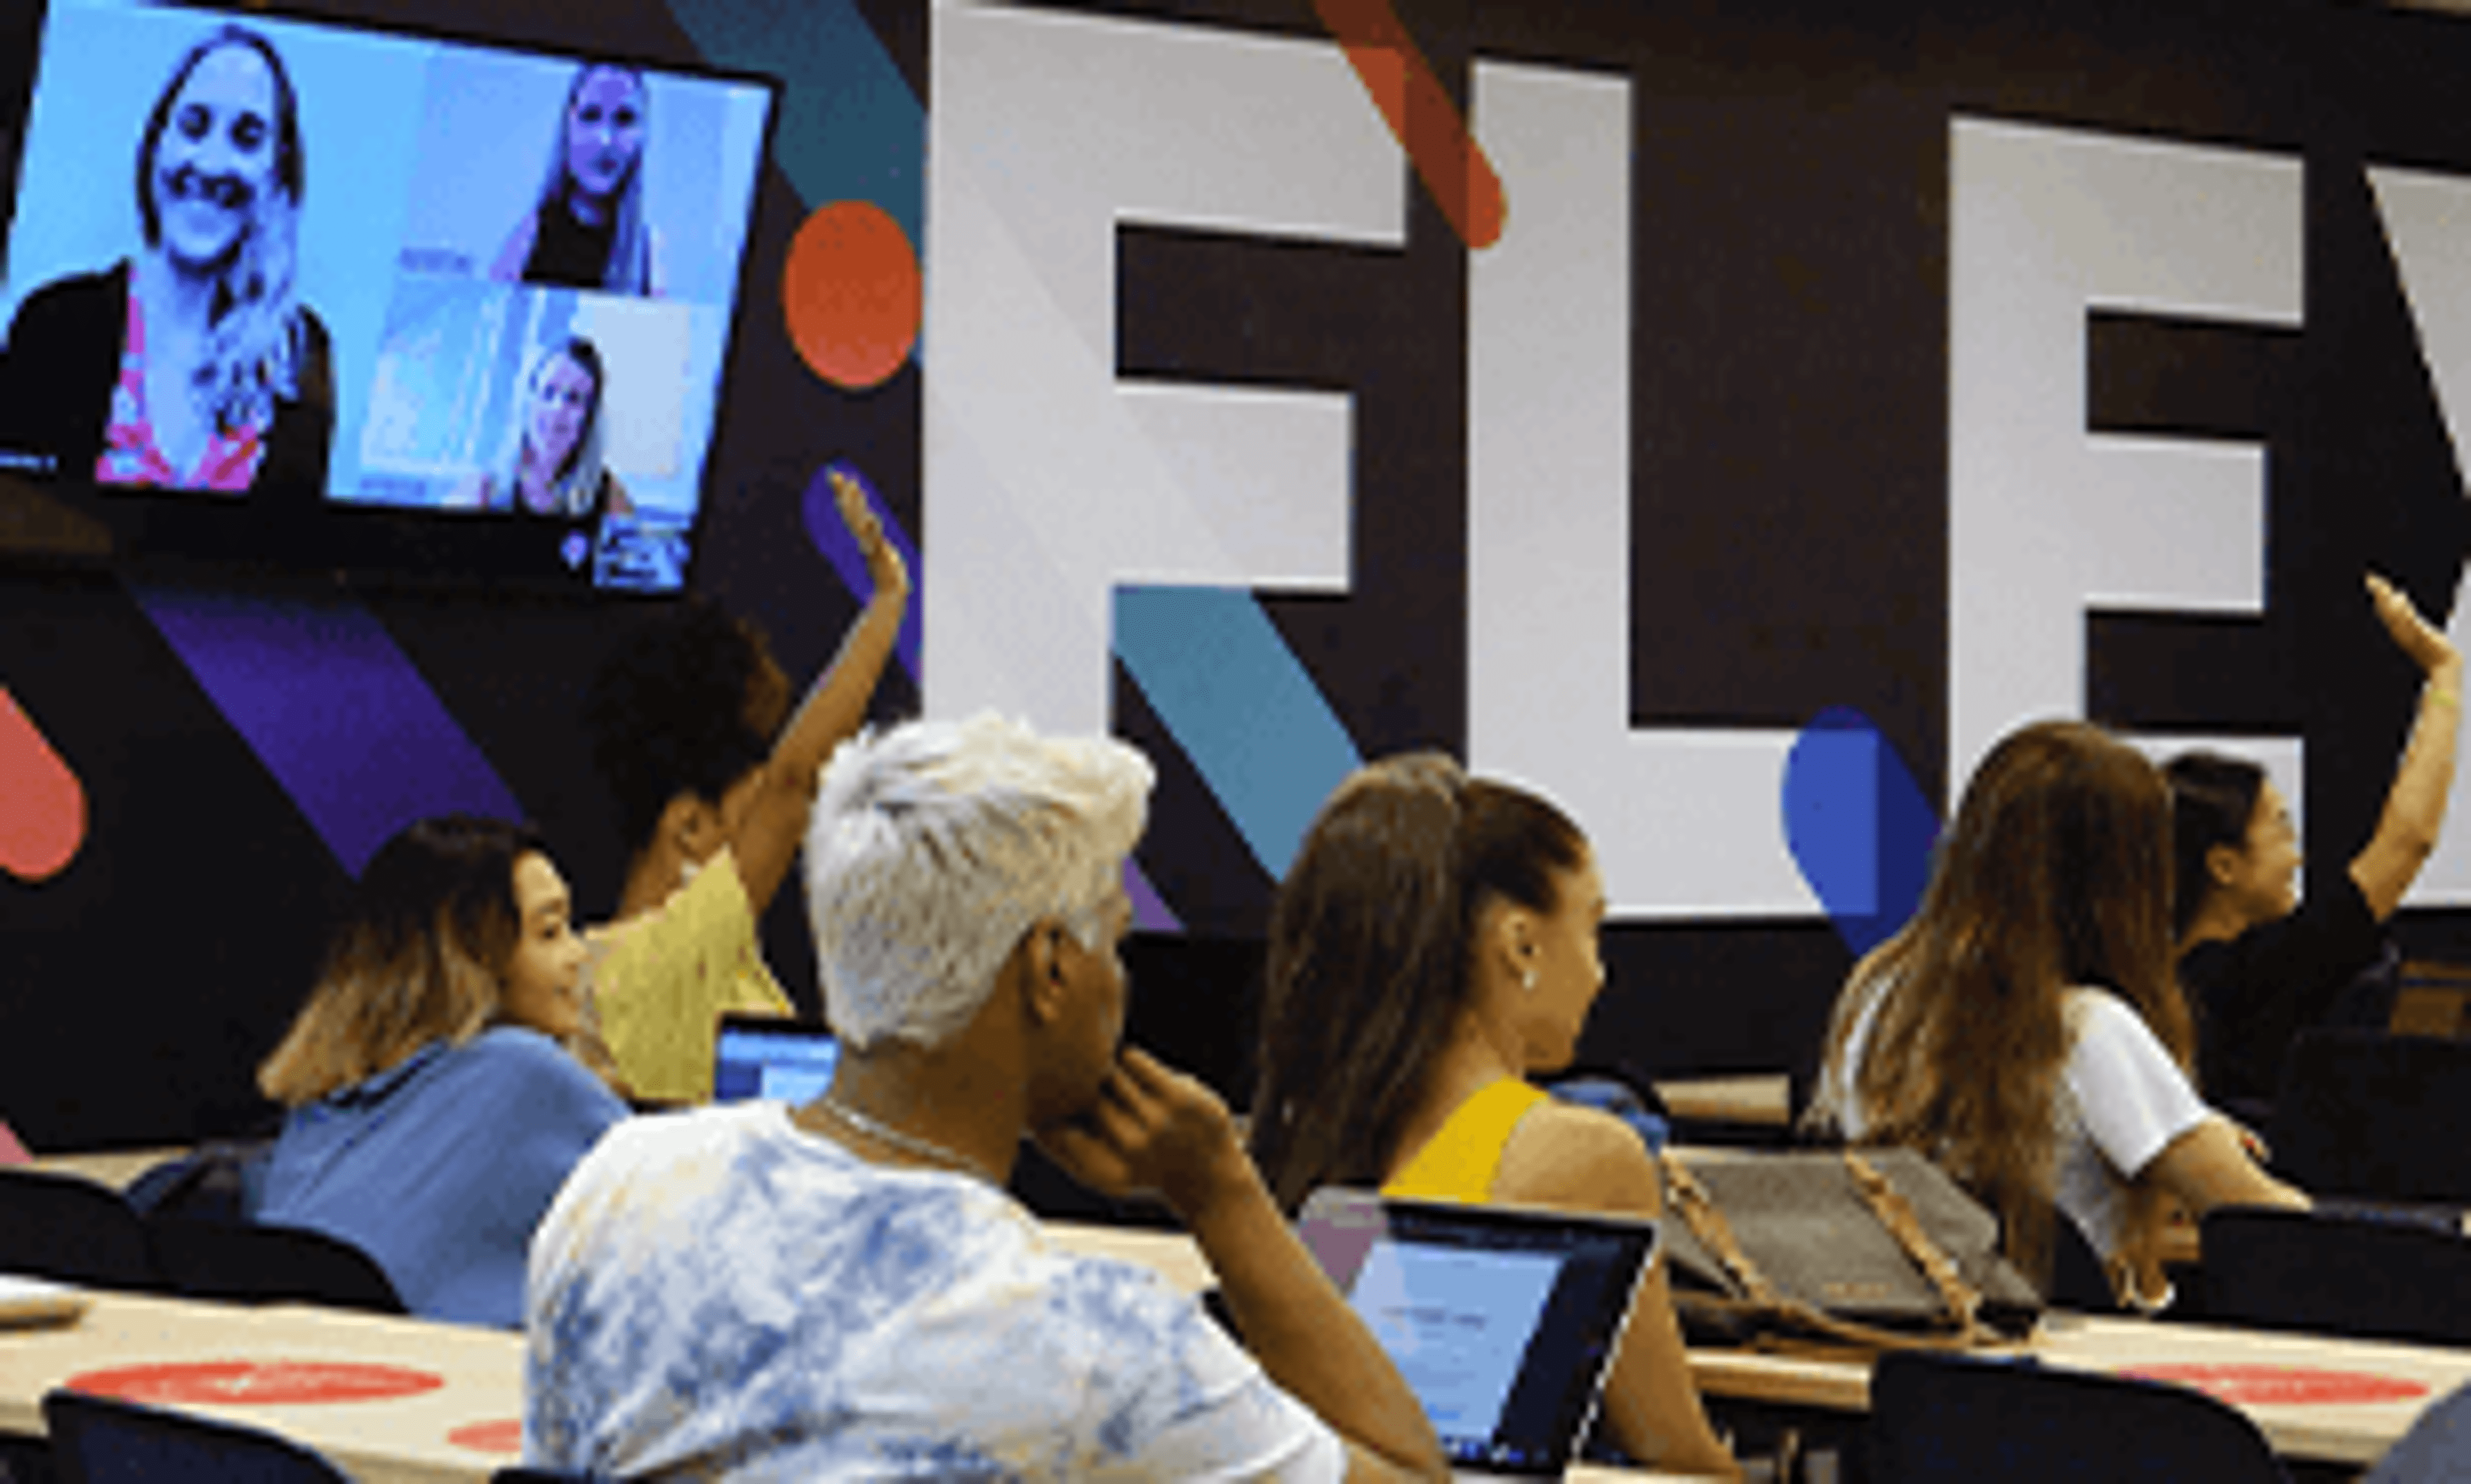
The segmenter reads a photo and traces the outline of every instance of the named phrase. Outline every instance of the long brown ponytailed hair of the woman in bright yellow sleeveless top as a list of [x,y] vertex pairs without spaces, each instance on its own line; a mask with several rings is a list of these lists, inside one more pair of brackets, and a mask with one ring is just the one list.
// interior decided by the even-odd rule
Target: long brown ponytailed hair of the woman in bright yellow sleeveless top
[[1270,909],[1250,1148],[1292,1212],[1376,1185],[1470,995],[1492,901],[1554,909],[1586,837],[1542,798],[1441,753],[1357,770],[1312,820]]

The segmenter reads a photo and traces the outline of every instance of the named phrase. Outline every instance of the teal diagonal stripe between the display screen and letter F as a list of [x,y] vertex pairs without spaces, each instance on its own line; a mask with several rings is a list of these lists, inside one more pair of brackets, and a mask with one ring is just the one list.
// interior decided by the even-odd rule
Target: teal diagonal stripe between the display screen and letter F
[[927,111],[850,0],[670,0],[714,67],[781,79],[773,163],[810,210],[880,205],[927,242]]

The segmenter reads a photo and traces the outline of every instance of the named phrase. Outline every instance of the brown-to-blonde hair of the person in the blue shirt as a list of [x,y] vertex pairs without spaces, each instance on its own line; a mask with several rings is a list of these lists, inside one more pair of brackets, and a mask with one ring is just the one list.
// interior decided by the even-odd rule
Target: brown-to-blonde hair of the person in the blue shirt
[[499,1020],[521,936],[514,862],[526,854],[549,854],[539,835],[474,815],[420,820],[381,844],[257,1086],[309,1104]]

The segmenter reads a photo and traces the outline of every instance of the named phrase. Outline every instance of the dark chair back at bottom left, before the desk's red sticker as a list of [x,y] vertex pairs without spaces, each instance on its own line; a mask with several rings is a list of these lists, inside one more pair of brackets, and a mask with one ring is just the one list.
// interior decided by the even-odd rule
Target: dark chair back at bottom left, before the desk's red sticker
[[59,1484],[351,1484],[316,1449],[287,1437],[74,1390],[42,1398]]

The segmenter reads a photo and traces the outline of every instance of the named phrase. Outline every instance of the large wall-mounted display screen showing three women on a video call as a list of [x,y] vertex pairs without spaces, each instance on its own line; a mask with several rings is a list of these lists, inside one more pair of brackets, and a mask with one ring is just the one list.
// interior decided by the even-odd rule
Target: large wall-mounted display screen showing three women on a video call
[[136,556],[677,590],[773,99],[54,0],[0,479]]

